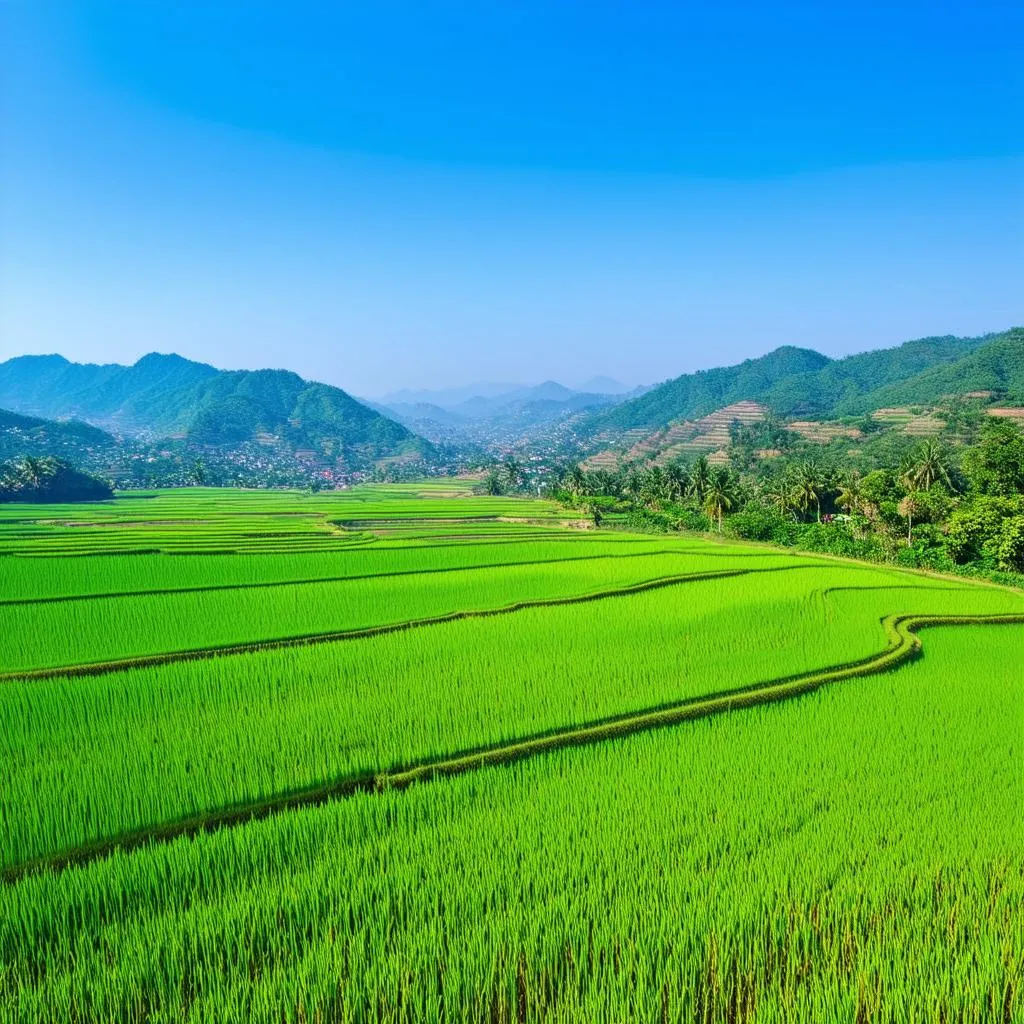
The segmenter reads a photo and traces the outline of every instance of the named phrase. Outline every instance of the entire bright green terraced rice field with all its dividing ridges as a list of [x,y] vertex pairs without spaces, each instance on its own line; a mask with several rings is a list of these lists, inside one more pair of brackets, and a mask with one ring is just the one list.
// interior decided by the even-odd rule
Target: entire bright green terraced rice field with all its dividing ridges
[[1024,1019],[1021,592],[453,482],[0,551],[0,1020]]

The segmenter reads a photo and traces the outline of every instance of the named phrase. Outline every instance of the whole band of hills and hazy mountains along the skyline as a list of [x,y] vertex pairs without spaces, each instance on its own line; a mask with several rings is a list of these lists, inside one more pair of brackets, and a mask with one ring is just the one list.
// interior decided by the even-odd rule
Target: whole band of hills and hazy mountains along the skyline
[[[455,449],[468,458],[509,447],[547,455],[642,450],[648,437],[652,450],[685,445],[698,421],[725,417],[709,423],[727,433],[728,411],[754,415],[752,403],[758,416],[813,421],[952,395],[1024,404],[1024,329],[923,338],[842,359],[784,346],[625,395],[545,381],[395,392],[380,402],[285,370],[222,371],[178,355],[151,353],[131,367],[27,355],[0,362],[0,410],[12,411],[0,414],[0,458],[87,452],[101,459],[116,443],[105,430],[223,452],[273,447],[304,464],[352,472],[382,460],[439,465]],[[711,427],[705,433],[717,436]],[[454,447],[445,454],[439,443]]]

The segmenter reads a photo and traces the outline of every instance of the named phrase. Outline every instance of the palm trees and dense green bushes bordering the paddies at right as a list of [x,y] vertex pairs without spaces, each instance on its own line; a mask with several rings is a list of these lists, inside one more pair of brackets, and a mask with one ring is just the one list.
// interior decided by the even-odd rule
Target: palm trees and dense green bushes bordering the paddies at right
[[[968,413],[973,440],[887,438],[834,451],[780,424],[735,425],[727,465],[571,467],[556,492],[596,521],[716,530],[813,551],[942,570],[1024,574],[1024,434]],[[776,446],[779,445],[779,446]],[[772,451],[770,459],[755,453]],[[507,475],[507,473],[506,473]]]

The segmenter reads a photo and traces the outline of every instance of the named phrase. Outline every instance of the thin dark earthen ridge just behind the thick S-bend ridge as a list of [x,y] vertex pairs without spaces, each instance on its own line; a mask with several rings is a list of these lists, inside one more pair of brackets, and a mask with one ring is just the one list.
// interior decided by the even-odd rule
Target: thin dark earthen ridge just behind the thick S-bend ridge
[[570,604],[588,604],[592,601],[604,601],[616,597],[630,597],[634,594],[642,594],[648,590],[660,590],[664,587],[674,587],[684,583],[725,580],[730,577],[750,575],[760,572],[788,572],[795,569],[811,567],[813,566],[773,565],[761,569],[716,569],[708,572],[687,572],[679,575],[655,577],[652,580],[644,580],[641,583],[630,584],[627,587],[594,591],[589,594],[578,594],[572,597],[538,598],[536,600],[515,601],[512,604],[501,605],[497,608],[446,611],[439,615],[409,618],[400,623],[385,623],[380,626],[367,626],[353,630],[330,630],[321,633],[304,633],[276,637],[269,640],[212,644],[208,647],[193,647],[187,650],[161,651],[154,654],[139,654],[134,657],[112,658],[103,662],[83,662],[76,665],[13,670],[0,673],[0,683],[81,676],[103,676],[116,672],[128,672],[131,669],[173,665],[177,662],[199,662],[213,657],[227,657],[233,654],[252,654],[264,650],[281,650],[286,647],[306,647],[322,643],[337,643],[343,640],[365,640],[369,637],[386,636],[390,633],[401,633],[407,630],[421,629],[428,626],[443,626],[446,623],[457,623],[466,618],[490,618],[496,615],[513,614],[517,611],[528,611],[531,608],[554,608]]

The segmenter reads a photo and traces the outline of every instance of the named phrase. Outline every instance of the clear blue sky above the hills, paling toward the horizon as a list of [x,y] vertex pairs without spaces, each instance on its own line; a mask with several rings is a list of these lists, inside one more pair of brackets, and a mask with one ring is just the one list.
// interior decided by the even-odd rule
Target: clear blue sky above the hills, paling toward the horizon
[[0,357],[373,395],[1021,324],[1022,39],[1019,0],[0,0]]

